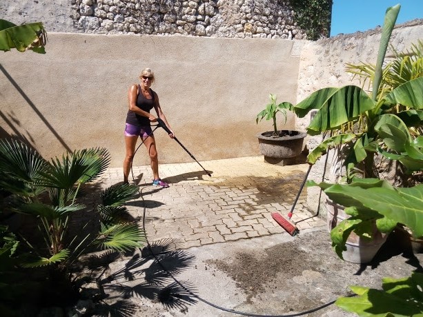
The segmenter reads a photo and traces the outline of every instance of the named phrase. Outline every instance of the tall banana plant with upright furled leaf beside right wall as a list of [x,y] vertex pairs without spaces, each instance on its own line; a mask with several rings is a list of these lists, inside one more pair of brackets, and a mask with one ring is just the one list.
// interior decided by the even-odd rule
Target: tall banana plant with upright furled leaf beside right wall
[[[382,68],[388,41],[400,11],[400,5],[386,10],[380,49],[373,74],[372,94],[367,94],[356,85],[342,88],[323,88],[294,106],[299,117],[311,110],[317,110],[307,132],[318,135],[335,132],[308,154],[308,163],[314,164],[327,150],[340,145],[348,145],[346,166],[364,162],[364,177],[375,177],[374,156],[384,138],[379,134],[383,122],[402,127],[421,127],[423,119],[423,73],[420,77],[405,81],[386,94],[378,94],[382,78],[386,76]],[[400,109],[400,111],[397,111]],[[391,116],[386,116],[391,114]],[[386,139],[386,138],[385,138]]]

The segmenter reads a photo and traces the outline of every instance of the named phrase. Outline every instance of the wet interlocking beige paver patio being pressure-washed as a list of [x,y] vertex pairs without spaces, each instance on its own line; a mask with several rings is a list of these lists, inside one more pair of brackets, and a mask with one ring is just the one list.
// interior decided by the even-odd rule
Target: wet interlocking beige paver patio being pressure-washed
[[[288,214],[308,165],[271,165],[262,156],[159,165],[169,188],[151,185],[150,166],[133,167],[134,183],[142,197],[127,205],[141,221],[146,205],[148,239],[172,238],[187,249],[212,243],[268,236],[284,232],[270,216]],[[99,179],[101,187],[119,183],[121,168],[110,168]],[[293,221],[299,230],[322,227],[321,218],[306,209],[306,187],[295,205]],[[144,199],[144,202],[143,202]]]

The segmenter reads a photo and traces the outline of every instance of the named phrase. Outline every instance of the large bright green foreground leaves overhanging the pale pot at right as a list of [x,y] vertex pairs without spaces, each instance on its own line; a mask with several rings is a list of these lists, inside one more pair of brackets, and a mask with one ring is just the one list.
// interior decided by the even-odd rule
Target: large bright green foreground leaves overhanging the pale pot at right
[[331,231],[333,247],[340,258],[349,234],[354,231],[371,239],[373,223],[384,233],[402,223],[415,237],[423,236],[423,185],[394,187],[379,178],[354,178],[350,184],[309,181],[308,185],[322,188],[332,201],[346,207],[344,211],[350,215]]

